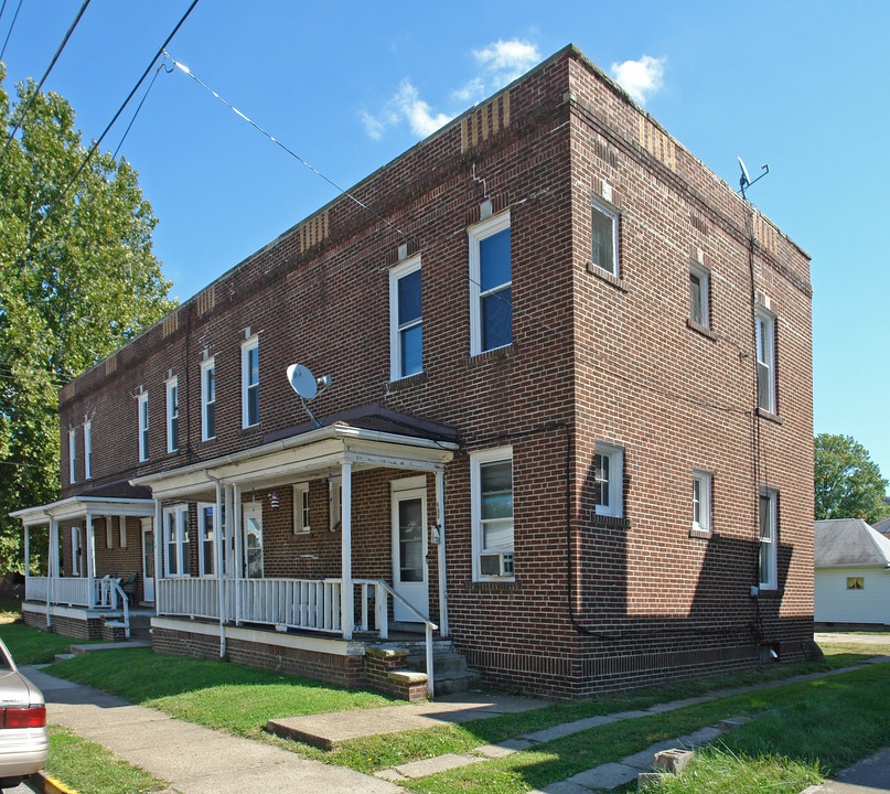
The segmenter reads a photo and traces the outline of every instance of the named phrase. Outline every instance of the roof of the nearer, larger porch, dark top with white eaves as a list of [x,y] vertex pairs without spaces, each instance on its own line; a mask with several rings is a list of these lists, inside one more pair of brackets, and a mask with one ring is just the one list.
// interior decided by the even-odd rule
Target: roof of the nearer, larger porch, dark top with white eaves
[[[459,448],[450,428],[368,406],[326,419],[321,428],[305,423],[269,434],[259,447],[169,471],[133,478],[156,498],[210,496],[224,485],[272,487],[301,479],[373,468],[437,471]],[[364,427],[363,427],[364,426]],[[396,432],[395,430],[401,430]]]

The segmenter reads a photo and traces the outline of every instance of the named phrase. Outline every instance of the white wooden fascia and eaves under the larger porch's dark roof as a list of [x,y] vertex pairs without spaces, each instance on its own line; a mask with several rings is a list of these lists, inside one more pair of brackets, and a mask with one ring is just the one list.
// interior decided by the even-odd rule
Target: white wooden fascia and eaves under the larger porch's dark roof
[[215,481],[224,485],[272,487],[336,474],[343,463],[353,471],[390,468],[437,471],[451,460],[451,441],[332,425],[223,458],[136,478],[156,498],[214,498]]

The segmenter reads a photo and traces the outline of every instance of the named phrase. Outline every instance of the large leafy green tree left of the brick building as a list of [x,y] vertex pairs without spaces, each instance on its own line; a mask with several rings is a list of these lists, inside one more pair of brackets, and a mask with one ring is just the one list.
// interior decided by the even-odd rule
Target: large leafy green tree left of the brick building
[[[10,104],[4,77],[0,64],[0,148],[34,94],[18,84]],[[58,389],[174,305],[124,158],[97,151],[51,212],[87,153],[74,118],[37,95],[0,161],[0,572],[21,562],[8,513],[58,494]]]

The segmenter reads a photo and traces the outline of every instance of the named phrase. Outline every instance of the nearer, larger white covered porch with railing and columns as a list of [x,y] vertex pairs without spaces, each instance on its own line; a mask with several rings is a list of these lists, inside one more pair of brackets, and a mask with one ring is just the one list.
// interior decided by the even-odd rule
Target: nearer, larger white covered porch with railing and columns
[[431,672],[433,633],[448,635],[454,433],[379,407],[350,420],[131,481],[151,489],[160,527],[156,637],[232,656],[247,631],[304,651],[337,640],[354,655],[408,631]]

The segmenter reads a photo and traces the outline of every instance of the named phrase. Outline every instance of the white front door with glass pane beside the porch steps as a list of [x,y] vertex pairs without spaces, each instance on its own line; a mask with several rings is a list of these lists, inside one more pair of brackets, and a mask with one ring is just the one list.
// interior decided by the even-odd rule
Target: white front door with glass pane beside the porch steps
[[[393,491],[393,589],[421,614],[429,615],[426,487]],[[420,622],[397,599],[393,600],[393,619]]]

